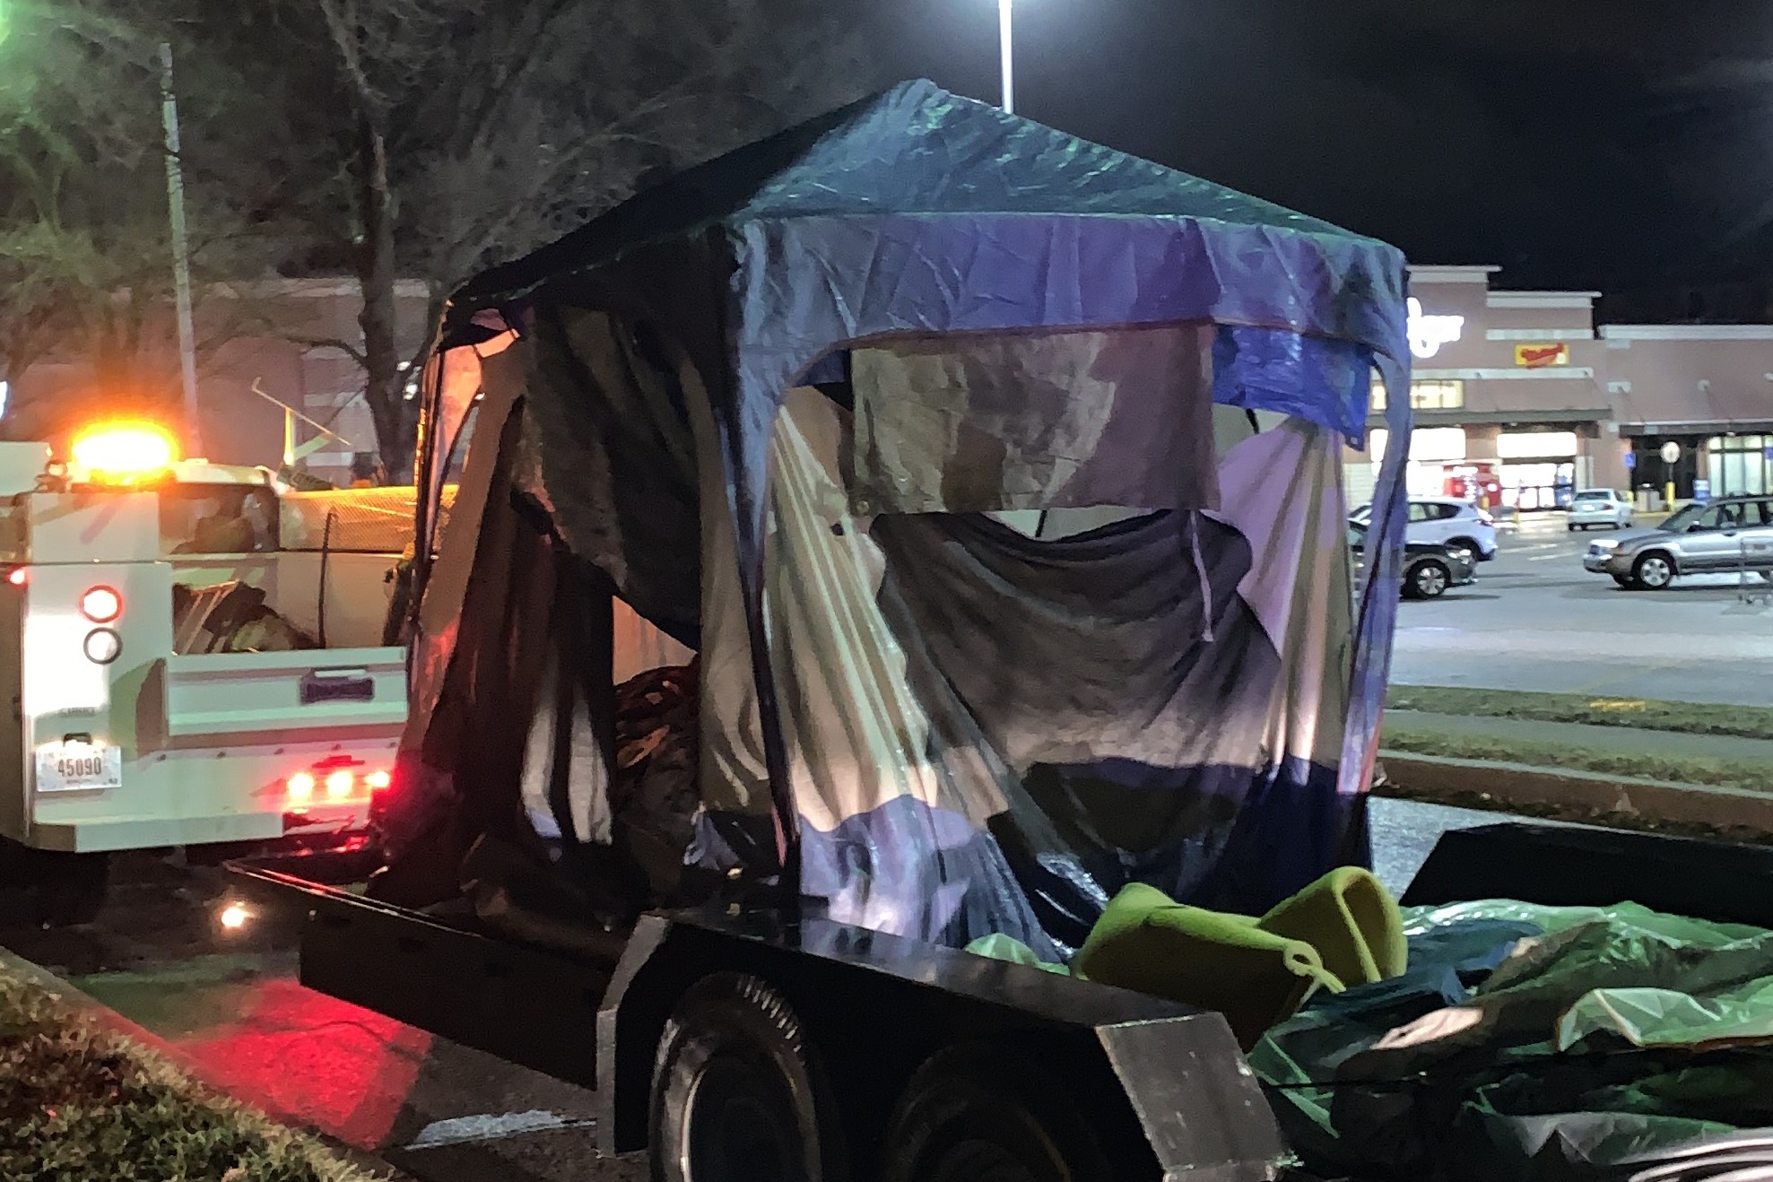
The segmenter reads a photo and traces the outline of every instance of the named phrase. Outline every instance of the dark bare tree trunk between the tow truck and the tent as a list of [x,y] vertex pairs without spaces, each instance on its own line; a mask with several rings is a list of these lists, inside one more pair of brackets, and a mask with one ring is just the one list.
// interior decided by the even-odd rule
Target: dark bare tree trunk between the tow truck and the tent
[[413,478],[413,434],[418,415],[417,400],[406,399],[406,374],[401,372],[399,303],[394,294],[394,195],[388,190],[387,140],[369,119],[362,131],[362,191],[358,207],[363,214],[363,241],[358,248],[358,285],[363,289],[363,310],[358,324],[363,328],[363,399],[376,425],[376,450],[388,480],[406,484]]

